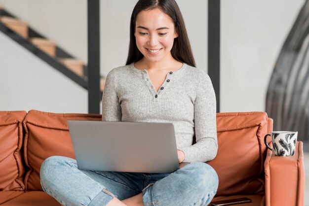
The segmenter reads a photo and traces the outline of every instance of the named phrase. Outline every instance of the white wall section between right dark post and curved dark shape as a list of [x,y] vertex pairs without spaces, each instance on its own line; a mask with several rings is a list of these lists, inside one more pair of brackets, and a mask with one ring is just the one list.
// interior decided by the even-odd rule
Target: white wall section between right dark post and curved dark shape
[[221,0],[221,112],[265,111],[270,75],[304,0]]

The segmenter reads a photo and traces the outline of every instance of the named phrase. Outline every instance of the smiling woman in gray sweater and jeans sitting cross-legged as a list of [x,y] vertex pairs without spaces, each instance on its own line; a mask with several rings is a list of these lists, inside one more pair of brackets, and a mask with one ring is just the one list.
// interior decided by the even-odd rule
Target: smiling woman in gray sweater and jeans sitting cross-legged
[[208,205],[218,188],[204,163],[217,154],[216,102],[209,76],[194,67],[175,0],[139,0],[126,66],[106,79],[102,119],[173,123],[179,163],[191,164],[164,174],[79,171],[75,160],[54,156],[41,166],[43,190],[68,206]]

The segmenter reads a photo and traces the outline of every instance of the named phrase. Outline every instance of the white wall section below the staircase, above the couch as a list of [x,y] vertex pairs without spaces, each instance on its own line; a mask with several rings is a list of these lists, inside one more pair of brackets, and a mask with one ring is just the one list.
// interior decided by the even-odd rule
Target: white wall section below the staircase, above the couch
[[0,32],[0,111],[87,113],[88,93]]

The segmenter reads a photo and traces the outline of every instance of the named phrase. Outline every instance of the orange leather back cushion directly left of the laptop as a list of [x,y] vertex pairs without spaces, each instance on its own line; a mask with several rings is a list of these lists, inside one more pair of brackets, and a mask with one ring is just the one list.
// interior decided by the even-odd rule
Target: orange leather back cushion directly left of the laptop
[[29,111],[23,124],[26,131],[24,150],[29,171],[25,176],[27,190],[42,190],[39,171],[42,162],[54,155],[75,158],[67,120],[102,120],[99,114],[55,114]]

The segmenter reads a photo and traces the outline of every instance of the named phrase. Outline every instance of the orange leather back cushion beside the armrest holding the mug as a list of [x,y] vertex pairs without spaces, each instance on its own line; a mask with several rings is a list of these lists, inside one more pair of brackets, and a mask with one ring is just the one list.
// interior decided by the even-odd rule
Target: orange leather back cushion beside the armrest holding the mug
[[217,114],[218,153],[207,162],[219,176],[216,196],[264,194],[267,126],[266,112]]

